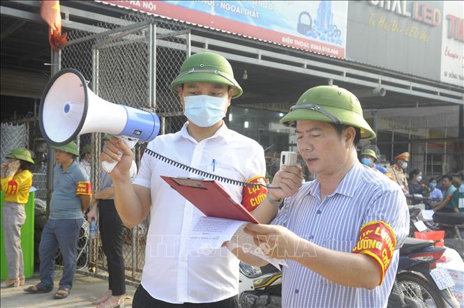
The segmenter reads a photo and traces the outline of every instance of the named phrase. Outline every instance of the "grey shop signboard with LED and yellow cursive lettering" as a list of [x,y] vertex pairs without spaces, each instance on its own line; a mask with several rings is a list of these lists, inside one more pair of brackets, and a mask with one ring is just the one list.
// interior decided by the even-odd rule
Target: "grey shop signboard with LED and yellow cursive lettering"
[[440,80],[443,2],[349,1],[346,59]]

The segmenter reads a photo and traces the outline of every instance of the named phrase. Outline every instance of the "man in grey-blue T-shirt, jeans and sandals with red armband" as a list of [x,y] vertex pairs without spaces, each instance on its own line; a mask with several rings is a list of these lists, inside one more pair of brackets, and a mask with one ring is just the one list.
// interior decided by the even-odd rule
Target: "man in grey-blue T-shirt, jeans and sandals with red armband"
[[57,248],[63,256],[63,275],[54,299],[66,298],[73,287],[77,260],[77,240],[84,222],[84,211],[89,207],[91,186],[89,177],[75,158],[79,149],[75,141],[63,146],[52,146],[57,164],[53,169],[53,193],[50,215],[40,237],[40,282],[24,291],[49,293],[54,288],[54,258]]

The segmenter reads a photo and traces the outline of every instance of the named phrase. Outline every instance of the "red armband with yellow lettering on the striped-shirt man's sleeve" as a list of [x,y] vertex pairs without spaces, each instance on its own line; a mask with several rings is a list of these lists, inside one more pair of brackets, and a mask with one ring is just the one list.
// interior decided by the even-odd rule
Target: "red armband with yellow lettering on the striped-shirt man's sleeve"
[[359,240],[352,252],[354,254],[367,254],[377,261],[380,270],[382,270],[382,277],[380,279],[380,284],[382,284],[395,247],[396,237],[391,226],[386,222],[375,221],[368,222],[361,227]]

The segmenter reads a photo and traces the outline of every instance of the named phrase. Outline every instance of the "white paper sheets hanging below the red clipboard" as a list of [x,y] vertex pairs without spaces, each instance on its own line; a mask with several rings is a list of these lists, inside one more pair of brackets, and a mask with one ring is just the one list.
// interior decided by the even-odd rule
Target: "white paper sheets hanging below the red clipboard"
[[[246,234],[243,229],[247,222],[241,220],[228,220],[225,218],[202,216],[193,223],[189,234],[188,252],[196,254],[210,254],[220,249],[223,242],[230,241],[229,249],[241,247],[244,252],[260,257],[280,270],[279,265],[287,266],[283,259],[274,259],[266,256],[260,247],[255,245],[253,237]],[[232,236],[237,232],[237,237]],[[232,239],[232,240],[231,240]]]

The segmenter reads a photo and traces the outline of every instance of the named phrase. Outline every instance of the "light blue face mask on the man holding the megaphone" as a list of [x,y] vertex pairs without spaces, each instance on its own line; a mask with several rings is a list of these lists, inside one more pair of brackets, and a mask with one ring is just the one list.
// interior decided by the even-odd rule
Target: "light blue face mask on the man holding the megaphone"
[[225,116],[227,98],[216,98],[209,95],[185,96],[184,114],[188,121],[202,128],[209,128]]

